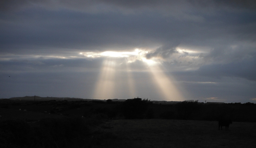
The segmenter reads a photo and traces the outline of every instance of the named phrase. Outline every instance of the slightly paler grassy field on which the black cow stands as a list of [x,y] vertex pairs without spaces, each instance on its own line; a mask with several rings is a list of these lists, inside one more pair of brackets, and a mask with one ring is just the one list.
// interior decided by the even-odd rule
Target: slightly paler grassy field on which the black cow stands
[[164,148],[252,148],[256,147],[256,123],[233,122],[229,130],[218,129],[217,121],[192,120],[111,120],[103,127],[116,139],[97,147]]

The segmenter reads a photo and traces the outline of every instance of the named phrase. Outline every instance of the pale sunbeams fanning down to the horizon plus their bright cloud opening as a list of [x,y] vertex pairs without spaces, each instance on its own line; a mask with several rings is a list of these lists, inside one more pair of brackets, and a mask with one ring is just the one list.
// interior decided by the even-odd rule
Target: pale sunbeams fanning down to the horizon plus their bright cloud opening
[[[145,54],[147,52],[136,49],[134,52],[103,52],[103,53],[80,53],[86,57],[106,57],[102,63],[100,75],[96,83],[93,97],[95,99],[114,99],[119,98],[120,92],[123,92],[123,96],[129,96],[130,98],[136,97],[136,81],[132,76],[132,69],[129,66],[136,60],[143,61],[148,72],[152,75],[153,81],[158,88],[158,92],[161,96],[161,100],[166,101],[183,101],[184,98],[179,90],[173,84],[171,78],[167,76],[161,68],[161,64],[158,61],[146,59]],[[117,63],[118,58],[125,58],[126,63],[121,63],[126,74],[121,76],[121,73]],[[120,87],[120,78],[122,77],[125,82],[125,87]],[[148,80],[152,81],[152,80]],[[121,90],[122,89],[122,90]],[[118,95],[119,94],[119,95]],[[147,95],[147,94],[145,94]]]

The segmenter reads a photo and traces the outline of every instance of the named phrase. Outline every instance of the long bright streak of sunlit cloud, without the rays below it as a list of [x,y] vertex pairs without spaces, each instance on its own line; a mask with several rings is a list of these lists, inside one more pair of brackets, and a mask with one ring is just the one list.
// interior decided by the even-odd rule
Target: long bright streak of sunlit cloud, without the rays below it
[[[173,53],[169,58],[163,59],[161,57],[152,57],[151,59],[146,58],[146,54],[152,49],[134,49],[133,51],[105,51],[105,52],[68,52],[68,53],[59,53],[59,54],[50,54],[50,55],[15,55],[15,54],[5,54],[0,55],[0,61],[7,60],[40,60],[40,59],[95,59],[95,58],[124,58],[127,63],[133,63],[137,60],[147,63],[148,66],[160,65],[164,61],[169,63],[178,62],[178,65],[172,67],[172,70],[196,70],[204,61],[202,58],[199,58],[199,54],[202,53],[203,48],[187,48],[187,47],[176,47],[178,53]],[[206,50],[207,52],[207,50]]]

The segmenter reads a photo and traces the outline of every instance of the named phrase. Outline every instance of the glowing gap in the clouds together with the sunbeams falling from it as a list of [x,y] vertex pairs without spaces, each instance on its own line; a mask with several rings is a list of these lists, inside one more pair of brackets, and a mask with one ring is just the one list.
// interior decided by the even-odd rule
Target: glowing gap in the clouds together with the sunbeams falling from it
[[[79,53],[86,58],[97,58],[97,57],[105,57],[106,60],[102,63],[101,74],[99,76],[98,82],[96,84],[96,88],[94,90],[94,97],[102,98],[102,97],[115,97],[117,81],[116,77],[116,63],[115,58],[125,58],[127,59],[127,64],[135,62],[136,60],[143,61],[148,67],[153,80],[155,80],[156,85],[158,86],[161,94],[163,95],[164,100],[184,100],[180,91],[173,84],[173,80],[169,76],[167,76],[163,69],[161,68],[161,63],[158,59],[146,59],[145,55],[148,53],[146,50],[135,49],[133,52],[114,52],[114,51],[106,51],[102,53],[96,52],[84,52]],[[128,64],[129,66],[129,64]],[[127,67],[128,68],[128,67]],[[129,73],[130,69],[126,69],[127,73]],[[135,91],[131,88],[134,88],[134,81],[132,75],[128,75],[127,84],[129,84],[129,94],[131,96],[136,95]]]

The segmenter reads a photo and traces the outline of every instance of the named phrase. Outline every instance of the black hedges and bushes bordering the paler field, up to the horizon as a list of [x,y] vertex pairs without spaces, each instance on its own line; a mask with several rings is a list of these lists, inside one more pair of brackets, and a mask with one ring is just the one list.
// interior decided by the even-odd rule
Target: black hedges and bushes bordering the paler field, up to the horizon
[[[19,118],[0,112],[0,147],[93,147],[116,136],[102,123],[114,119],[181,119],[233,122],[256,122],[256,104],[205,104],[187,100],[177,104],[154,104],[148,99],[133,98],[124,102],[99,101],[20,101],[0,100],[0,108],[16,110]],[[21,111],[19,111],[21,109]],[[22,117],[24,109],[37,113]],[[40,118],[45,114],[60,118]],[[6,117],[5,117],[6,116]],[[216,125],[217,126],[217,125]]]

